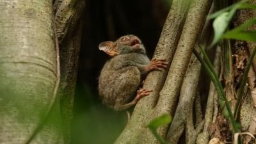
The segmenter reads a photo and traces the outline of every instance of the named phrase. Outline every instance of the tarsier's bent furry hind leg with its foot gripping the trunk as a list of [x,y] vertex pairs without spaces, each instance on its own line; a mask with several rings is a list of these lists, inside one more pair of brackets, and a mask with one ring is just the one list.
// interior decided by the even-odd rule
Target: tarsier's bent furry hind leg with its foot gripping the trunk
[[[133,106],[141,97],[149,95],[149,92],[151,92],[144,89],[138,90],[141,83],[141,76],[140,70],[138,70],[137,67],[127,67],[122,76],[120,76],[119,82],[115,90],[116,110],[127,109]],[[128,102],[134,95],[136,95],[136,97],[131,102]]]

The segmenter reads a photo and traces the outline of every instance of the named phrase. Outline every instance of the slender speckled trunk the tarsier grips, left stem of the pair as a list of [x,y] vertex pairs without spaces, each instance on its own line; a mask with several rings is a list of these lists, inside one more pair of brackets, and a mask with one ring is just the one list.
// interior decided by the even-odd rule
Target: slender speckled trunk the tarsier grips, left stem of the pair
[[[166,59],[168,62],[172,61],[187,11],[187,1],[173,0],[172,8],[166,18],[161,37],[154,53],[154,58]],[[141,143],[143,131],[147,129],[147,127],[145,127],[148,122],[147,117],[156,105],[158,93],[163,86],[165,77],[165,71],[154,71],[148,74],[143,88],[153,90],[153,92],[147,97],[142,98],[138,104],[136,104],[131,119],[115,143]]]

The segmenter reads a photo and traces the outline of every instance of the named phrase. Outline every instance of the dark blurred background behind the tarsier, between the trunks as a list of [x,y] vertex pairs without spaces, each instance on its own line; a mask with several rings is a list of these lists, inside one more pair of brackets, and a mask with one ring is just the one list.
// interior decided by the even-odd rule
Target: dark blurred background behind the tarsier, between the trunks
[[137,35],[152,58],[169,8],[166,0],[86,1],[74,101],[73,144],[113,143],[127,123],[124,111],[114,111],[100,102],[97,77],[109,59],[99,51],[100,42]]

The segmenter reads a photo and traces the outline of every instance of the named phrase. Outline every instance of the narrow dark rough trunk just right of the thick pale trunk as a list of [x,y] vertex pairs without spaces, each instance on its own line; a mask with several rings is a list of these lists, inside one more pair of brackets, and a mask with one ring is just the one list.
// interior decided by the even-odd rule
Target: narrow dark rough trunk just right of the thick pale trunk
[[[71,4],[70,4],[71,3]],[[60,42],[61,81],[58,96],[64,143],[70,143],[70,124],[73,118],[74,93],[76,88],[79,49],[81,44],[84,1],[55,1],[56,25]],[[67,19],[68,17],[68,19]]]

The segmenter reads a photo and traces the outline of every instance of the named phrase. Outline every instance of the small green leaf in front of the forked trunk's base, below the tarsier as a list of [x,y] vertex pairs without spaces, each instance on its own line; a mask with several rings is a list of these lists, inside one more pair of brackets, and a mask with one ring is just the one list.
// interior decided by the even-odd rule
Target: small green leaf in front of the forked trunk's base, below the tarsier
[[156,130],[157,127],[160,127],[161,125],[170,124],[171,121],[172,117],[169,114],[164,114],[151,120],[148,127]]

